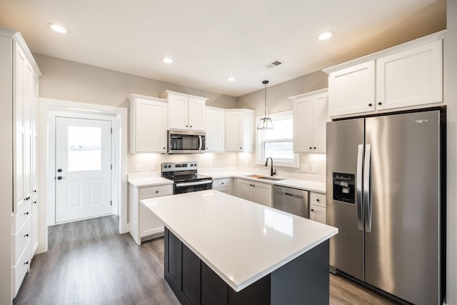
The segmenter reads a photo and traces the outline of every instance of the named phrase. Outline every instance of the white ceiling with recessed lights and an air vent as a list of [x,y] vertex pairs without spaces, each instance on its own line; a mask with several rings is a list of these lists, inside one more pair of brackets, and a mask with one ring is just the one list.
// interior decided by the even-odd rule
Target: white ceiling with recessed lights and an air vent
[[[337,64],[341,52],[438,1],[0,0],[0,26],[21,31],[35,53],[241,96],[264,79],[278,84]],[[336,35],[318,41],[325,30]],[[284,64],[263,66],[273,59]]]

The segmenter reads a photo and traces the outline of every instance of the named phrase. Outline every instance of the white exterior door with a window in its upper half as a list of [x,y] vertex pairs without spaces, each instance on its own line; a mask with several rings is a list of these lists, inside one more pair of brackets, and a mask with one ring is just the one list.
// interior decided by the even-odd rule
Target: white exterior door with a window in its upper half
[[56,117],[56,223],[111,214],[111,121]]

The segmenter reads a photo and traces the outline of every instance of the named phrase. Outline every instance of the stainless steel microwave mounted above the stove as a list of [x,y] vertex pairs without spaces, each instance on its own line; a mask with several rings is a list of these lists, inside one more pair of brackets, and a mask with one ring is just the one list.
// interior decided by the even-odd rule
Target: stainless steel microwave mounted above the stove
[[205,152],[205,131],[167,131],[168,154],[202,154]]

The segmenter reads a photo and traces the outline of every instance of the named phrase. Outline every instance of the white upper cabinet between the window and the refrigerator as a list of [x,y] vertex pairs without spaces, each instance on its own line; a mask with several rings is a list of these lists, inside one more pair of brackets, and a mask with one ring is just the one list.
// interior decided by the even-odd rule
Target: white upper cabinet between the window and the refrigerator
[[326,152],[327,89],[292,96],[293,151]]

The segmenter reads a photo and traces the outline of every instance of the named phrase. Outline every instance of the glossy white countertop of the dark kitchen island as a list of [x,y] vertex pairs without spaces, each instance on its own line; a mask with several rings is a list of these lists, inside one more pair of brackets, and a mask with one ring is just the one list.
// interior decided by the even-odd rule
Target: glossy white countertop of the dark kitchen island
[[141,203],[235,291],[338,233],[332,226],[214,190]]

